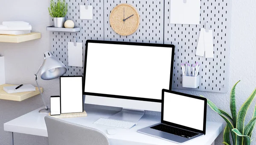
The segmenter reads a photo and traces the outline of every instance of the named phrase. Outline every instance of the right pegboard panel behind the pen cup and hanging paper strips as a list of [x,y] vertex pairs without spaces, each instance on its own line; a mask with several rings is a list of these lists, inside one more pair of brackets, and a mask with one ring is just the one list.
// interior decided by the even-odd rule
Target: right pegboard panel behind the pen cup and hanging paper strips
[[[231,0],[201,0],[201,25],[170,24],[170,0],[165,0],[164,43],[175,45],[173,89],[183,88],[181,63],[198,62],[201,67],[200,86],[197,89],[208,92],[227,92]],[[214,59],[195,56],[200,29],[209,22],[213,30]]]

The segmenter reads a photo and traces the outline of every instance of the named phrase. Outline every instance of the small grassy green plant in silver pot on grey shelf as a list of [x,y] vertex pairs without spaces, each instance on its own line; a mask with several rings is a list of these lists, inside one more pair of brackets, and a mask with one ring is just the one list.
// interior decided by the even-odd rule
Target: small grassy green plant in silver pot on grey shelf
[[67,3],[65,3],[65,0],[58,0],[56,3],[51,0],[48,11],[49,15],[54,18],[54,27],[64,28],[65,16],[67,14]]

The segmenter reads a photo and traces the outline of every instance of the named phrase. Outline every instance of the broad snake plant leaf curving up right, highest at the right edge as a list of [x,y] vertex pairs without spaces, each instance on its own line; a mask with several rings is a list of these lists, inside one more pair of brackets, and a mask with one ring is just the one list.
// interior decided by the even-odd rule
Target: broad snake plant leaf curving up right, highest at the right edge
[[[241,106],[241,108],[238,112],[236,128],[241,134],[244,134],[245,116],[247,114],[248,108],[249,108],[250,104],[252,103],[255,95],[256,95],[256,89],[253,91],[253,93],[250,95],[250,97],[244,102],[244,104]],[[237,138],[239,138],[239,137],[237,137]],[[236,142],[237,145],[241,145],[243,142],[243,139],[236,139],[236,141],[237,141]]]

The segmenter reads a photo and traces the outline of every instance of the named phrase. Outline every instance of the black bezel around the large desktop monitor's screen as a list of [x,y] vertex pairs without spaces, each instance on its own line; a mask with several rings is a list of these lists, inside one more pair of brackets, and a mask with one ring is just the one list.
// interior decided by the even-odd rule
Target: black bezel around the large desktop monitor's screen
[[86,44],[85,44],[85,55],[84,55],[84,82],[83,82],[83,94],[84,95],[92,95],[92,96],[99,96],[99,97],[109,97],[109,98],[119,98],[119,99],[129,99],[129,100],[140,100],[140,101],[149,101],[149,102],[159,102],[159,103],[161,103],[161,101],[162,101],[161,99],[149,99],[149,98],[122,96],[122,95],[110,95],[110,94],[100,94],[100,93],[84,92],[84,89],[85,89],[85,78],[86,78],[88,43],[103,43],[103,44],[116,44],[116,45],[140,45],[140,46],[152,46],[152,47],[171,47],[172,48],[172,60],[171,60],[172,62],[171,62],[169,89],[172,89],[172,75],[173,75],[173,64],[174,64],[174,53],[175,53],[175,46],[174,45],[137,43],[137,42],[115,42],[115,41],[87,40]]

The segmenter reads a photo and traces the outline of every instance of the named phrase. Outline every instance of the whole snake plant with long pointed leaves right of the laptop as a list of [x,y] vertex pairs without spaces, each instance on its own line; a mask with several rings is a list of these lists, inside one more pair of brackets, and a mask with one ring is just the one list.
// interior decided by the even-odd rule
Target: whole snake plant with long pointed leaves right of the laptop
[[[230,93],[230,111],[231,115],[227,112],[218,109],[212,101],[207,99],[208,106],[215,112],[217,112],[226,122],[227,125],[224,128],[223,134],[223,144],[224,145],[231,145],[230,142],[230,134],[233,141],[233,145],[250,145],[250,142],[253,140],[251,139],[253,129],[256,125],[256,106],[253,112],[253,117],[249,121],[249,123],[244,127],[244,120],[249,109],[250,104],[253,102],[253,99],[256,95],[256,89],[250,95],[250,97],[244,102],[241,106],[238,114],[236,113],[236,85],[239,81],[233,86],[231,93]],[[201,97],[204,97],[200,95]]]

